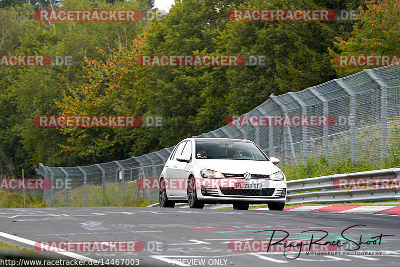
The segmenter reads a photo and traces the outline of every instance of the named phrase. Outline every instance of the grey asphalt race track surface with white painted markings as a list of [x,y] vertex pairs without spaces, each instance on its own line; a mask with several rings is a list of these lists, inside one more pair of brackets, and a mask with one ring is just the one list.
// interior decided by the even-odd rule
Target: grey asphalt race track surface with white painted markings
[[[140,249],[137,252],[102,250],[67,254],[70,258],[84,256],[104,263],[107,259],[132,259],[130,262],[138,262],[139,266],[309,267],[328,264],[341,267],[398,266],[400,260],[400,219],[392,215],[68,207],[0,209],[0,217],[0,240],[30,249],[34,248],[33,242],[39,241],[140,241],[143,244],[142,249],[135,244],[135,248]],[[314,231],[304,232],[306,230]],[[323,251],[316,241],[324,235],[320,242],[329,241],[325,247],[330,248],[321,254]],[[271,237],[272,242],[281,240],[281,245],[267,252],[265,244]],[[233,240],[241,241],[233,243]],[[260,240],[265,245],[262,249],[260,242],[255,242]],[[313,255],[306,254],[309,242],[315,245]],[[294,251],[290,243],[302,243],[303,251]],[[59,255],[55,252],[43,254]]]

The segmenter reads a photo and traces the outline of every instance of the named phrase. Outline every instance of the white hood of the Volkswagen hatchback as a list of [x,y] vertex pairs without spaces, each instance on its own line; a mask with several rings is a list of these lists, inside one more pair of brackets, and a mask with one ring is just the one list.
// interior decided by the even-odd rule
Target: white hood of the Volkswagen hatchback
[[240,159],[200,159],[196,164],[204,169],[221,173],[245,173],[271,175],[279,171],[270,161],[240,160]]

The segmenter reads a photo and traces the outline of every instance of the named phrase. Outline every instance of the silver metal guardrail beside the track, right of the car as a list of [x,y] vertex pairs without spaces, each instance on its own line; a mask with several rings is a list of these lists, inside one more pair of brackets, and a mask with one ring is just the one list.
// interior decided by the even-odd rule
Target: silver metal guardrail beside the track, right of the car
[[287,181],[286,204],[343,203],[376,200],[399,200],[400,189],[335,189],[335,179],[393,179],[400,178],[400,168],[333,174],[315,178]]

